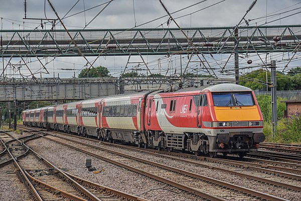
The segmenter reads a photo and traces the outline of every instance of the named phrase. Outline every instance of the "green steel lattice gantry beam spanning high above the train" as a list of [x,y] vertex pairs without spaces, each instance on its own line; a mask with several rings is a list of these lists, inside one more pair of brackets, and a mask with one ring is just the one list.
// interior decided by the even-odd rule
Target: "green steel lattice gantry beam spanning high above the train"
[[[301,25],[182,28],[202,54],[300,51]],[[65,30],[2,30],[0,57],[80,56]],[[191,54],[180,29],[69,30],[84,56]],[[280,41],[273,38],[279,36]],[[239,43],[238,43],[239,42]]]

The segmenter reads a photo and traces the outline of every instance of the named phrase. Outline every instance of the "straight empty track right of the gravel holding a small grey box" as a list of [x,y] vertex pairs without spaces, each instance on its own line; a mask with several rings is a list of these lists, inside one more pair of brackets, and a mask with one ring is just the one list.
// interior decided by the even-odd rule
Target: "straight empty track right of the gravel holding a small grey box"
[[[110,151],[108,149],[102,149],[100,147],[94,147],[93,145],[89,145],[89,144],[79,142],[79,141],[76,141],[76,140],[73,141],[73,140],[66,139],[66,138],[61,138],[61,137],[58,139],[58,136],[52,136],[51,138],[55,142],[61,143],[65,146],[69,146],[71,148],[75,148],[79,151],[88,153],[88,154],[93,155],[95,157],[104,159],[106,161],[109,161],[109,162],[112,162],[114,164],[123,166],[125,168],[131,169],[131,170],[136,171],[136,172],[141,173],[142,171],[147,169],[148,172],[144,172],[143,173],[144,175],[149,176],[150,174],[157,174],[157,175],[155,175],[155,176],[157,176],[156,179],[158,179],[160,177],[162,177],[162,178],[167,177],[168,178],[167,180],[172,180],[172,179],[176,180],[177,184],[174,183],[173,185],[179,186],[179,183],[182,184],[182,185],[184,184],[184,186],[182,186],[182,187],[188,186],[188,187],[190,187],[190,189],[186,187],[186,190],[194,190],[194,192],[196,192],[196,193],[198,193],[200,190],[202,190],[205,193],[213,193],[213,195],[215,195],[216,197],[221,197],[222,199],[227,199],[227,200],[235,199],[235,197],[236,198],[237,197],[243,197],[243,199],[246,199],[246,200],[257,200],[258,199],[257,197],[262,197],[262,199],[269,199],[269,200],[273,200],[273,199],[279,200],[278,197],[274,197],[274,196],[269,197],[270,195],[267,195],[267,194],[264,194],[264,193],[260,194],[260,192],[257,192],[255,190],[245,189],[245,188],[240,187],[240,186],[236,186],[236,185],[229,184],[229,183],[226,183],[226,182],[218,181],[218,180],[212,179],[212,178],[207,178],[207,177],[204,177],[204,176],[192,173],[192,172],[179,170],[177,168],[168,167],[166,165],[162,165],[162,164],[158,164],[158,163],[153,163],[151,161],[146,161],[146,160],[143,160],[141,158],[132,157],[132,156],[129,156],[129,155],[126,155],[126,154],[124,155],[124,154],[121,154],[121,153],[116,153],[116,152]],[[56,139],[54,139],[54,138],[56,138]],[[68,143],[67,142],[62,142],[62,139],[67,140]],[[70,141],[72,141],[72,142],[70,143]],[[71,145],[72,143],[80,143],[81,146],[84,146],[84,147],[78,148],[79,147],[78,144]],[[93,150],[87,151],[87,150],[90,150],[91,147],[97,148],[97,149],[102,150],[102,151],[101,151],[100,154],[94,154],[95,151],[93,151]],[[105,151],[105,152],[103,152],[103,151]],[[110,152],[110,154],[108,155],[107,152]],[[112,154],[115,155],[115,156],[113,156]],[[107,155],[107,157],[104,157],[104,155]],[[110,158],[110,159],[108,159],[108,158]],[[114,159],[112,159],[112,158],[114,158]],[[134,160],[136,160],[136,161],[134,161]],[[129,165],[124,166],[125,162],[127,162],[127,164],[129,164]],[[143,164],[143,165],[141,165],[141,164]],[[137,169],[137,167],[139,167],[139,168]],[[158,172],[166,172],[166,173],[165,174],[162,173],[162,174],[158,175]],[[161,178],[161,180],[162,180],[162,178]],[[166,179],[164,179],[164,180],[166,180]],[[206,186],[206,187],[199,189],[196,186]],[[218,186],[221,186],[221,187],[218,187]],[[225,190],[225,188],[227,188],[227,190]],[[216,189],[216,192],[212,192],[212,189]],[[234,192],[233,192],[233,190],[234,190]],[[248,194],[248,195],[246,195],[246,194]],[[203,196],[204,196],[204,194],[203,194]],[[206,196],[208,196],[208,195],[206,195]],[[206,198],[208,198],[208,197],[206,197]],[[210,199],[212,199],[212,197]],[[281,198],[280,198],[280,200],[281,200]]]

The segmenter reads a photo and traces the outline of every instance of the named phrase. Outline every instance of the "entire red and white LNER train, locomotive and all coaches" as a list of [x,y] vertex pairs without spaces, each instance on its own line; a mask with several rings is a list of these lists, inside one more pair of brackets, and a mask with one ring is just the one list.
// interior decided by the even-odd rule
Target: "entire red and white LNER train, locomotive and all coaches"
[[235,84],[139,92],[26,110],[26,126],[195,154],[256,151],[263,119],[251,89]]

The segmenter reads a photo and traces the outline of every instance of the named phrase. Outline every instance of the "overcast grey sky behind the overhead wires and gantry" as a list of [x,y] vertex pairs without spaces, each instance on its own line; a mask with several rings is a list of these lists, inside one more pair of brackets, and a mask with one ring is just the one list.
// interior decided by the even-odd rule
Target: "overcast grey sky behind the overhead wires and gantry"
[[[173,18],[176,19],[176,22],[180,27],[222,27],[222,26],[235,26],[240,19],[245,14],[246,10],[249,8],[253,1],[250,0],[226,0],[226,1],[183,1],[183,0],[162,0],[166,5],[170,13],[174,13],[183,8],[189,7],[196,4],[188,9],[185,9],[181,12],[172,14]],[[68,11],[74,6],[77,0],[52,0],[58,15],[62,18]],[[82,29],[88,24],[93,18],[95,18],[99,12],[104,9],[89,25],[88,28],[96,29],[108,29],[108,28],[133,28],[135,26],[140,28],[156,28],[164,27],[167,28],[168,17],[161,18],[159,20],[153,21],[157,18],[166,16],[166,12],[161,6],[158,0],[115,0],[112,1],[97,1],[97,0],[80,0],[75,7],[67,14],[67,18],[64,19],[64,24],[68,29]],[[199,3],[199,4],[197,4]],[[23,20],[24,18],[24,1],[10,0],[4,1],[1,0],[0,5],[0,18],[2,19],[2,29],[41,29],[40,22],[37,20]],[[101,5],[103,4],[103,5]],[[101,6],[99,6],[101,5]],[[44,12],[45,6],[45,12]],[[77,14],[84,11],[84,8],[87,10],[92,7],[96,7],[87,12]],[[43,0],[28,0],[27,1],[27,18],[56,18],[54,12],[51,10],[50,6],[46,1],[44,5]],[[207,8],[208,7],[208,8]],[[258,0],[254,8],[246,16],[246,19],[250,19],[250,25],[264,25],[265,22],[274,21],[268,23],[267,25],[296,25],[301,24],[301,14],[296,14],[301,11],[301,4],[299,0]],[[287,12],[289,10],[295,9],[294,11]],[[197,12],[198,11],[198,12]],[[196,13],[194,13],[196,12]],[[194,14],[192,14],[194,13]],[[77,14],[71,16],[73,14]],[[190,15],[191,14],[191,15]],[[276,14],[272,18],[265,18],[265,16],[270,14]],[[285,18],[285,16],[296,14],[291,17]],[[181,17],[185,16],[186,17]],[[68,17],[71,16],[71,17]],[[178,18],[181,17],[181,18]],[[177,19],[178,18],[178,19]],[[281,19],[281,20],[277,20]],[[150,22],[153,21],[153,22]],[[150,23],[147,23],[150,22]],[[140,26],[141,25],[141,26]],[[46,25],[47,28],[50,28],[50,25]],[[59,25],[57,25],[58,29]],[[171,27],[176,27],[174,23],[170,24]],[[280,55],[281,56],[281,55]],[[155,61],[162,56],[143,56],[146,62]],[[214,56],[213,63],[221,62],[219,65],[222,65],[227,56],[225,55],[216,55]],[[279,57],[279,54],[275,54],[275,57]],[[288,57],[287,55],[282,55],[282,58]],[[49,58],[47,61],[51,61],[53,58]],[[93,57],[88,58],[92,61]],[[111,74],[114,76],[119,76],[122,67],[126,65],[128,57],[101,57],[96,62],[97,65],[102,65],[107,67]],[[139,57],[132,58],[135,61],[140,61]],[[166,66],[162,68],[168,68],[167,64],[172,62],[173,65],[179,67],[179,59],[177,57],[166,59]],[[257,58],[258,59],[258,58]],[[35,58],[32,58],[31,61],[35,61]],[[187,59],[186,59],[187,60]],[[256,60],[256,58],[254,58]],[[12,60],[12,63],[18,63],[20,59],[16,58]],[[29,59],[27,61],[30,61]],[[43,63],[47,63],[43,59]],[[2,60],[1,60],[2,62]],[[5,65],[7,61],[4,61]],[[164,63],[164,62],[163,62]],[[176,64],[174,64],[176,63]],[[43,74],[43,77],[51,77],[55,72],[60,73],[60,77],[72,77],[74,72],[77,74],[78,70],[66,71],[60,70],[61,68],[74,68],[82,69],[86,64],[86,61],[83,58],[56,58],[54,61],[47,64],[47,69],[50,72],[50,75]],[[32,62],[28,64],[33,71],[39,71],[40,65],[38,62]],[[291,65],[298,65],[298,63],[291,63]],[[132,66],[134,67],[134,66]],[[23,67],[22,67],[23,68]],[[22,69],[24,74],[28,73],[26,69]],[[159,67],[154,66],[154,72],[159,72]],[[14,72],[12,69],[9,74],[18,77],[19,72]],[[42,71],[43,73],[43,71]],[[204,73],[204,72],[202,72]],[[205,73],[204,73],[205,74]],[[39,76],[38,76],[39,77]]]

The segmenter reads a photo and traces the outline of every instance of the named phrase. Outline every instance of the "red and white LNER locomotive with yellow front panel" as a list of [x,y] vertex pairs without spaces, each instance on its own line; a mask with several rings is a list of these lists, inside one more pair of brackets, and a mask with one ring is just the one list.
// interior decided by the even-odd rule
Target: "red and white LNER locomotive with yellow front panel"
[[147,97],[144,124],[150,146],[212,155],[257,150],[264,140],[263,121],[250,89],[220,84],[190,90]]

